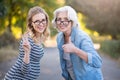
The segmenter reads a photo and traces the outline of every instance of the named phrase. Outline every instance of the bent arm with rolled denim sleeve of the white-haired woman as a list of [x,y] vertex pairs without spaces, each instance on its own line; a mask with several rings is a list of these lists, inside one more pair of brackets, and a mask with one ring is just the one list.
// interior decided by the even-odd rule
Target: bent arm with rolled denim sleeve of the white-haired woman
[[91,67],[99,68],[102,66],[102,59],[94,49],[94,45],[89,37],[86,37],[81,41],[80,47],[81,49],[76,50],[76,54],[82,56],[82,54],[85,53],[87,55],[87,63]]

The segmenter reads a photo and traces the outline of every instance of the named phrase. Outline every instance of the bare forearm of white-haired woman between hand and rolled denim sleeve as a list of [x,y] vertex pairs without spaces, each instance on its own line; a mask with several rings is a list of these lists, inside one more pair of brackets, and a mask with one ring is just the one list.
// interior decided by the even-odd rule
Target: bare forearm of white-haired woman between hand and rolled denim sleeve
[[81,59],[83,59],[86,63],[88,63],[88,54],[87,54],[85,51],[83,51],[83,50],[75,47],[75,48],[74,48],[74,52],[75,52],[75,54],[78,55]]

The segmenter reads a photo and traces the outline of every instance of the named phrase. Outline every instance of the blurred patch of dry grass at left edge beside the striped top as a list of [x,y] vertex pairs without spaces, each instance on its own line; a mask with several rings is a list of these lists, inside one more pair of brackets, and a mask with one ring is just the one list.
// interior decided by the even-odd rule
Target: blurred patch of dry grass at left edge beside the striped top
[[11,60],[18,55],[18,49],[12,46],[0,48],[0,62]]

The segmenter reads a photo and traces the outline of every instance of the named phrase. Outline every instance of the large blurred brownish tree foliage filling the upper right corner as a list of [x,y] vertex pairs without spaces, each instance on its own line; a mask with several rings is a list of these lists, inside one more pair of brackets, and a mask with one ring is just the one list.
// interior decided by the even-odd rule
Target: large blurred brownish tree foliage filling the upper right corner
[[66,0],[66,4],[85,16],[88,29],[120,39],[120,0]]

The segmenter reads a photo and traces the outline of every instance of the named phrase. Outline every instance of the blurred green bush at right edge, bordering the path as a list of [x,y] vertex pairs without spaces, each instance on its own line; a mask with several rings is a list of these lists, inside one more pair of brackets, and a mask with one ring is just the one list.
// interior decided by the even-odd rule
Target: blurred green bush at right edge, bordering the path
[[120,58],[120,40],[105,40],[101,43],[100,50],[111,57]]

